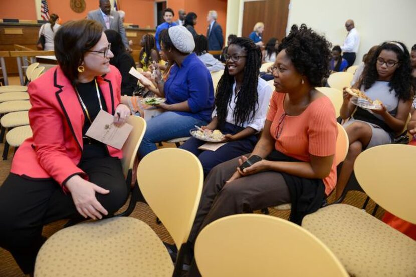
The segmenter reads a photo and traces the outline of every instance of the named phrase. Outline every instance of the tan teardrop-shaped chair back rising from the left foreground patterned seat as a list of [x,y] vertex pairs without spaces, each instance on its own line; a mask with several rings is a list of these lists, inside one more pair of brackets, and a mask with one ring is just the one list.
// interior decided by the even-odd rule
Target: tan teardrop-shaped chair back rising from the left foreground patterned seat
[[140,161],[137,182],[146,202],[180,249],[188,240],[202,193],[200,161],[182,149],[160,149]]

